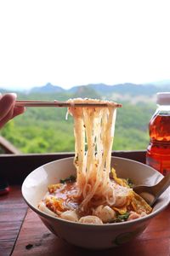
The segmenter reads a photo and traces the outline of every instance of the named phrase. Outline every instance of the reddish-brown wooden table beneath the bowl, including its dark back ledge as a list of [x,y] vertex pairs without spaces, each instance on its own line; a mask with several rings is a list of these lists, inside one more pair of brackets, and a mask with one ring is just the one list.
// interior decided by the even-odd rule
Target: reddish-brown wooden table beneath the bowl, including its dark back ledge
[[[154,218],[133,241],[105,251],[71,246],[54,236],[35,212],[26,206],[20,192],[24,178],[37,166],[73,154],[1,155],[0,173],[8,178],[10,192],[0,196],[0,256],[14,255],[170,255],[170,205]],[[145,161],[145,152],[115,152],[114,155]]]

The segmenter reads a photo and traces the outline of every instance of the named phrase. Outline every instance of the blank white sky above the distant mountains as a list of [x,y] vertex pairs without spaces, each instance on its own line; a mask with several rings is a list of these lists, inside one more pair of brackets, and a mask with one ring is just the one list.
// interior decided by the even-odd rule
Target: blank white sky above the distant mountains
[[169,0],[0,0],[0,88],[170,79]]

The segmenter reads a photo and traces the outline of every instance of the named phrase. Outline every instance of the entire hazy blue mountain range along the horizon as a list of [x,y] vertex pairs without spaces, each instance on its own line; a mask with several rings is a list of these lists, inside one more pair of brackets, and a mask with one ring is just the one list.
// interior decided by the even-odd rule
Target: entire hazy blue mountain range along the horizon
[[[168,82],[169,81],[169,82]],[[30,99],[37,99],[37,94],[42,95],[44,100],[58,99],[65,100],[73,97],[91,97],[102,99],[114,99],[118,101],[149,101],[151,98],[155,101],[156,93],[161,91],[170,91],[170,80],[157,82],[155,84],[87,84],[74,86],[65,90],[60,86],[46,84],[40,87],[33,87],[30,91],[20,92],[20,98],[29,96]],[[0,90],[5,93],[7,91]]]

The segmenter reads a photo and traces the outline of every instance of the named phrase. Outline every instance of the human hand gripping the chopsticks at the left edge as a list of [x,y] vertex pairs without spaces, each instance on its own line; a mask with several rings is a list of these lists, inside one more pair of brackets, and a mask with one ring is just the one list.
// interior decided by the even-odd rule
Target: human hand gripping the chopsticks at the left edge
[[20,113],[24,113],[24,107],[15,107],[14,102],[16,100],[15,93],[8,93],[2,95],[0,93],[0,128],[5,125],[9,119],[13,119]]

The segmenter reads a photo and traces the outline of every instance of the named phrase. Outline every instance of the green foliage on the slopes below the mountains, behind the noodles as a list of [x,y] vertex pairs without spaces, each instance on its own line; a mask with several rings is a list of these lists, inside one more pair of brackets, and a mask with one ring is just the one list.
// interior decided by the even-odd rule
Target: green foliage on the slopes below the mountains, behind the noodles
[[[66,100],[71,95],[22,94],[20,99]],[[148,123],[155,106],[122,102],[117,109],[114,150],[144,149],[149,142]],[[65,120],[65,108],[27,108],[26,113],[8,122],[1,134],[23,153],[74,151],[73,120]]]

